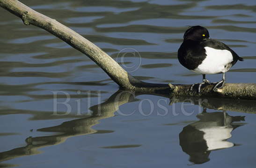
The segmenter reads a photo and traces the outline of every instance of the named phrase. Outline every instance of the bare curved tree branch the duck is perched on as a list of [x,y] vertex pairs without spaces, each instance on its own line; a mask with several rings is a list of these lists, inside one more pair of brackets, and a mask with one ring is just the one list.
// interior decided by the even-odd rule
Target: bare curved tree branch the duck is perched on
[[201,94],[198,94],[195,91],[189,91],[189,85],[169,84],[168,86],[168,84],[155,84],[139,81],[128,74],[115,60],[102,51],[102,49],[58,21],[38,13],[18,0],[0,0],[0,6],[21,18],[25,25],[34,25],[43,28],[83,54],[86,54],[123,89],[140,93],[256,99],[256,84],[229,83],[225,84],[225,86],[217,92],[212,91],[212,86],[207,86],[202,89]]

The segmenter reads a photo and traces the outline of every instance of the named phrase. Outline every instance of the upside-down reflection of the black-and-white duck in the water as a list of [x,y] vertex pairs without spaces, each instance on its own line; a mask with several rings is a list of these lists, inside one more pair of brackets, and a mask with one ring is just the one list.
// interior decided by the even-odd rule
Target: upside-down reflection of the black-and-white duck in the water
[[207,113],[206,108],[197,115],[199,121],[184,127],[179,134],[180,146],[183,152],[190,155],[190,161],[194,164],[202,164],[210,161],[212,150],[230,148],[234,143],[227,141],[231,138],[231,132],[242,124],[234,124],[235,121],[244,121],[244,116],[230,116],[224,112]]

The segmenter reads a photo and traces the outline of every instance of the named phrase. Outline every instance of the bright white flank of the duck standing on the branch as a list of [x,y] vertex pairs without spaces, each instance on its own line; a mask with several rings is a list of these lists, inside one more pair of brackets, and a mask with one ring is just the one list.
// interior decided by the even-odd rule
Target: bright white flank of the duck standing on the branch
[[[196,69],[192,70],[197,74],[219,74],[227,72],[233,61],[233,56],[228,50],[205,47],[206,58]],[[225,67],[226,66],[226,67]]]

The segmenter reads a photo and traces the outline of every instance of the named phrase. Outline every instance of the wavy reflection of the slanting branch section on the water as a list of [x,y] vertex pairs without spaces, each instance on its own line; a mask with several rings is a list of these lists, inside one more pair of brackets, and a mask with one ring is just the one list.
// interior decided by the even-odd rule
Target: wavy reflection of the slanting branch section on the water
[[[107,101],[92,106],[90,108],[90,110],[93,111],[92,115],[86,116],[82,119],[66,121],[58,126],[38,129],[37,131],[60,132],[61,134],[28,137],[25,140],[27,143],[25,147],[14,148],[12,150],[1,152],[0,162],[27,155],[37,155],[41,153],[40,151],[38,151],[39,148],[58,145],[60,143],[65,142],[66,139],[69,137],[96,133],[97,131],[91,128],[92,126],[98,124],[99,120],[101,119],[113,117],[114,113],[118,110],[119,106],[129,101],[132,101],[134,98],[135,96],[134,93],[132,92],[117,91],[115,94],[111,95]],[[110,132],[113,131],[100,131],[100,133]],[[5,167],[5,164],[0,164],[0,167]]]

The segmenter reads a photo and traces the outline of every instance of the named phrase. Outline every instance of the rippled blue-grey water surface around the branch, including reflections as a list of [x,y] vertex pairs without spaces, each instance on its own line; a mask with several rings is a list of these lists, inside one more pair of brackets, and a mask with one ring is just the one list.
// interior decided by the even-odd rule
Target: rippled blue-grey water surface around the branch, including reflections
[[[176,52],[188,26],[205,26],[245,58],[227,82],[256,83],[254,0],[21,1],[147,82],[201,81]],[[87,56],[3,9],[0,16],[0,167],[255,167],[254,101],[118,91]],[[67,94],[69,107],[59,103],[54,114],[54,95],[64,102]]]

